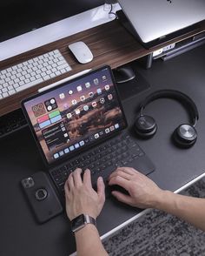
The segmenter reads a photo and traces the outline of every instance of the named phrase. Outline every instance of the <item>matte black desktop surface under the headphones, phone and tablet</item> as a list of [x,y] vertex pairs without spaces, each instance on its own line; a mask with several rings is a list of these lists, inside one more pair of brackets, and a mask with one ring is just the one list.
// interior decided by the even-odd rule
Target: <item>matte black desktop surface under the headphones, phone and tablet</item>
[[[161,99],[149,104],[146,113],[152,115],[158,131],[155,137],[142,141],[142,149],[155,163],[155,172],[150,175],[163,189],[175,191],[201,175],[205,170],[205,46],[189,51],[168,62],[160,60],[152,69],[145,71],[136,64],[138,71],[146,77],[151,89],[123,101],[129,127],[136,117],[136,108],[142,98],[151,91],[175,89],[185,92],[197,104],[200,119],[196,125],[198,140],[194,147],[181,150],[170,142],[175,127],[188,121],[188,113],[181,104],[171,99]],[[120,91],[127,90],[126,86]],[[20,140],[20,138],[23,138]],[[29,129],[13,134],[1,141],[0,147],[0,255],[1,256],[56,256],[75,251],[74,237],[70,232],[65,214],[43,225],[37,225],[20,187],[20,179],[44,170],[43,161]],[[98,218],[101,235],[129,223],[140,211],[107,200]]]

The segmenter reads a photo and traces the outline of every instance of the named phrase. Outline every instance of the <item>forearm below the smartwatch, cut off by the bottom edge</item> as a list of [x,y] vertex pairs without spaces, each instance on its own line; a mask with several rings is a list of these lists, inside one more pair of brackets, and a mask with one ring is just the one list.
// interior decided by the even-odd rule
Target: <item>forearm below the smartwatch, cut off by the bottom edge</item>
[[75,233],[77,256],[107,256],[94,225],[87,225]]

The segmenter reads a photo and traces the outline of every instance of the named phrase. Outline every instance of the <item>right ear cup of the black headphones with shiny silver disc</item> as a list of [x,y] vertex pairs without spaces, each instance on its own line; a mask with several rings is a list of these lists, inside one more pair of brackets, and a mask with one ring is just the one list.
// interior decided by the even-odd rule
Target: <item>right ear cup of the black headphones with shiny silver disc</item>
[[173,133],[174,142],[182,148],[188,148],[195,144],[197,131],[192,125],[179,125]]

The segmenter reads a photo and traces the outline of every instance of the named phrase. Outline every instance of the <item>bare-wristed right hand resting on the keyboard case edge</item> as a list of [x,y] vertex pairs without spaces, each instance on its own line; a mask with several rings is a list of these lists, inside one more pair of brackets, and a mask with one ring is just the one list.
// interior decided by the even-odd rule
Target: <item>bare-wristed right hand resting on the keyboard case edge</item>
[[119,167],[112,172],[109,176],[109,185],[120,185],[129,192],[129,195],[126,195],[113,191],[116,199],[142,209],[155,208],[163,192],[154,181],[129,167]]

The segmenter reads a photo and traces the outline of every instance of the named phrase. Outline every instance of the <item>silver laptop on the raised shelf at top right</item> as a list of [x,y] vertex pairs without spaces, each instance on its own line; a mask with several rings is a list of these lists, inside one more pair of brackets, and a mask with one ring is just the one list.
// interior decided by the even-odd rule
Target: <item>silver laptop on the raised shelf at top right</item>
[[149,47],[179,36],[205,19],[204,0],[117,1],[132,25],[129,30],[133,30],[142,44]]

